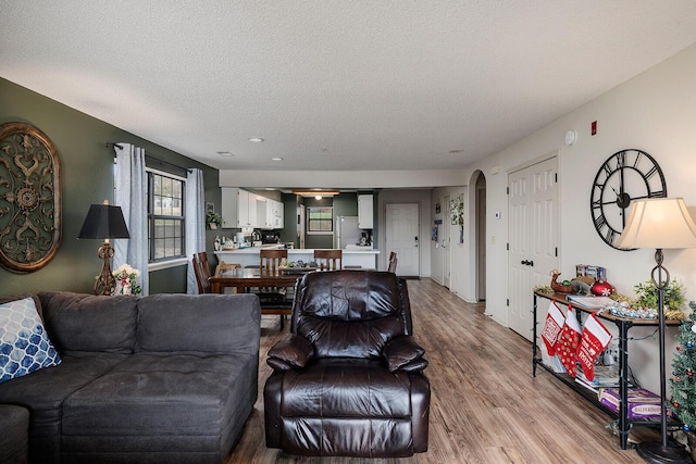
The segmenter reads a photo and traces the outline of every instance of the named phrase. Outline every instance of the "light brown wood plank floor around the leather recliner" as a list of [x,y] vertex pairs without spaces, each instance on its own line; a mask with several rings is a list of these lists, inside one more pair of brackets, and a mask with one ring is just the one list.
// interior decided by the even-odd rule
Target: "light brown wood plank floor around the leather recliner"
[[430,279],[409,280],[414,335],[432,388],[430,450],[409,459],[299,457],[266,449],[265,353],[288,330],[263,316],[259,399],[227,464],[237,463],[639,463],[607,429],[612,419],[543,369],[531,343]]

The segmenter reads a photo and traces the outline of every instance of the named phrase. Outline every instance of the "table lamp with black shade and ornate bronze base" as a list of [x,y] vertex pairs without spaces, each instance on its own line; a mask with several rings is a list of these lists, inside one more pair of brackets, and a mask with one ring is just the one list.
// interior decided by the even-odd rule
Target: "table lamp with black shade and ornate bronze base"
[[116,279],[111,274],[111,258],[113,248],[109,243],[110,238],[130,238],[126,222],[123,220],[121,206],[112,206],[107,200],[103,204],[92,204],[89,206],[87,217],[78,238],[101,238],[103,244],[99,247],[97,254],[103,259],[101,272],[95,281],[95,294],[111,294],[111,290],[116,285]]

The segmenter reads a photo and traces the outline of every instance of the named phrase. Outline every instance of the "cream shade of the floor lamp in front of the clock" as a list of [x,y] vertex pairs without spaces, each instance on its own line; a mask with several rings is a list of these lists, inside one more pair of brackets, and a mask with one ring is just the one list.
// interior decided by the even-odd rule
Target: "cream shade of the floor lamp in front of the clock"
[[620,248],[696,248],[696,224],[682,198],[636,200]]

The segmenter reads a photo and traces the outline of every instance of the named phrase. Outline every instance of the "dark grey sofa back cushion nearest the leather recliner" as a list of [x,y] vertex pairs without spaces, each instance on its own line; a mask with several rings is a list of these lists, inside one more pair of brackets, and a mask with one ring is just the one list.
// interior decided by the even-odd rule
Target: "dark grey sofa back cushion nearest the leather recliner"
[[138,351],[258,352],[254,294],[156,294],[138,301]]

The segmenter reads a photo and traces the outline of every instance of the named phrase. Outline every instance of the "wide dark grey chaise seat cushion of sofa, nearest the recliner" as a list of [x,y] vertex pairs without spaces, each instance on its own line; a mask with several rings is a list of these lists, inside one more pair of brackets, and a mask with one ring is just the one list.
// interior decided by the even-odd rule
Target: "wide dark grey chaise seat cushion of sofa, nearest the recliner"
[[220,462],[256,401],[258,363],[258,354],[133,354],[65,401],[64,452],[217,449]]

